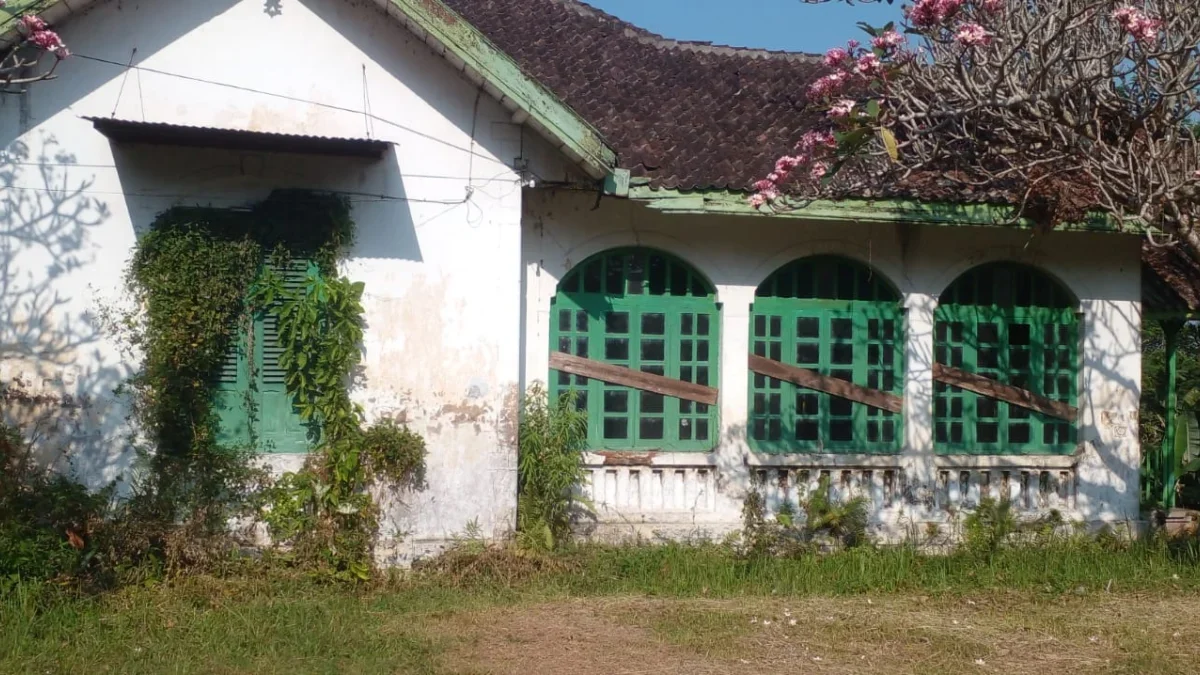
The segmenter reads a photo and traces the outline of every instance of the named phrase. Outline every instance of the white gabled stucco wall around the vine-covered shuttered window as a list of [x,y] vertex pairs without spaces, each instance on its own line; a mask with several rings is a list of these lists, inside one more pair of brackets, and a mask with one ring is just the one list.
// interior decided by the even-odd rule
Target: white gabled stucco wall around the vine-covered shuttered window
[[[468,522],[506,533],[521,303],[522,177],[511,167],[548,157],[533,169],[562,177],[565,160],[373,2],[97,2],[59,28],[77,54],[59,79],[0,97],[0,382],[46,398],[12,402],[10,417],[38,423],[43,446],[68,450],[92,485],[127,474],[113,388],[136,360],[98,316],[122,298],[136,237],[176,204],[341,191],[358,226],[344,271],[366,282],[354,398],[370,419],[410,424],[430,450],[428,489],[386,509],[385,544],[403,543],[385,552],[403,561]],[[116,145],[85,115],[395,145],[378,161]],[[302,458],[269,459],[282,468]]]

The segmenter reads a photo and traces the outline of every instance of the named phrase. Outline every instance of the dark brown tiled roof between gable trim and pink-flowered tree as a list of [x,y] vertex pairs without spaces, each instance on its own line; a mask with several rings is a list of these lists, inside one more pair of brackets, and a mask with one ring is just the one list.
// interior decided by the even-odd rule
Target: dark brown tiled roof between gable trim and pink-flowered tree
[[576,0],[444,0],[655,187],[746,190],[816,115],[812,54],[667,40]]

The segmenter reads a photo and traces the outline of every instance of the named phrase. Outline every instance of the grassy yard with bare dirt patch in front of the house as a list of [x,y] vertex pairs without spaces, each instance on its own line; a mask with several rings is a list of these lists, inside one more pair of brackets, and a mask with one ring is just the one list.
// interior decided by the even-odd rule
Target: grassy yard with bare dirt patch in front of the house
[[370,589],[284,573],[71,599],[17,589],[0,598],[0,671],[1091,675],[1200,663],[1194,563],[854,555],[857,568],[842,554],[751,565],[660,548],[499,556]]

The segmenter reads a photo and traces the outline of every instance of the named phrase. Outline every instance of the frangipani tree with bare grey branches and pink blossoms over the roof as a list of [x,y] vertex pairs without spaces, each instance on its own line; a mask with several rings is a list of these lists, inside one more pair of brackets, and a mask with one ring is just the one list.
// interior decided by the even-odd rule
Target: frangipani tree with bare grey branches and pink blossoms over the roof
[[936,184],[1048,225],[1138,220],[1200,261],[1195,0],[916,0],[863,28],[826,54],[824,121],[754,204]]

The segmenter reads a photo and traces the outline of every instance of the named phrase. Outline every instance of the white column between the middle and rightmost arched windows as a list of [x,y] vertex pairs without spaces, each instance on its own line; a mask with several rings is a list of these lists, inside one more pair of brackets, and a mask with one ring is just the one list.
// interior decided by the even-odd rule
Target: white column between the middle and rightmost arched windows
[[934,453],[934,309],[937,299],[926,293],[905,297],[907,340],[905,345],[904,424],[901,465],[918,498],[932,496],[937,480]]

